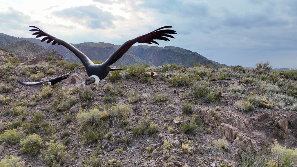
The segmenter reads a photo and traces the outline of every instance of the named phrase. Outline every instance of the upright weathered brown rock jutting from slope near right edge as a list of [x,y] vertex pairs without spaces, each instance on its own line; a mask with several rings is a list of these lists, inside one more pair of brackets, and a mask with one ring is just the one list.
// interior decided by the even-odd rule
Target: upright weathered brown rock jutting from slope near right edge
[[288,134],[288,118],[285,114],[281,114],[278,117],[275,117],[273,119],[275,132],[277,136],[279,136],[281,139],[285,140],[286,135]]

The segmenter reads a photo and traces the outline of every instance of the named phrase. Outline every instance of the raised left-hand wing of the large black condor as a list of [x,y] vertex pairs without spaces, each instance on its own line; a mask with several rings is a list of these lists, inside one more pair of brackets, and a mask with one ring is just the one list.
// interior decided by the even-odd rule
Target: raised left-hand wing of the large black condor
[[33,33],[33,35],[37,35],[36,38],[38,37],[44,37],[41,42],[47,40],[46,43],[50,43],[53,41],[52,45],[55,45],[56,43],[58,45],[63,45],[65,48],[69,49],[70,51],[72,51],[72,53],[74,53],[78,59],[80,59],[80,61],[83,63],[83,65],[85,67],[87,67],[89,64],[93,64],[93,62],[85,55],[83,54],[81,51],[79,51],[77,48],[75,48],[74,46],[72,46],[70,43],[64,41],[64,40],[60,40],[44,31],[42,31],[41,29],[35,27],[35,26],[29,26],[32,27],[34,29],[31,29],[30,31],[36,31]]

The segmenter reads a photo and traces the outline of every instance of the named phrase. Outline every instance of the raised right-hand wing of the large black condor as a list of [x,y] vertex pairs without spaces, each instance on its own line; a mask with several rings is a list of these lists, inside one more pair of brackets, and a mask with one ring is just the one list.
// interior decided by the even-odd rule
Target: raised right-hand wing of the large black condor
[[121,45],[115,52],[113,52],[109,58],[103,62],[103,64],[111,65],[117,60],[121,58],[121,56],[126,53],[129,48],[131,48],[132,45],[134,45],[136,42],[138,43],[148,43],[152,44],[155,43],[159,45],[158,42],[154,40],[164,40],[164,41],[170,41],[167,37],[174,38],[172,35],[169,34],[176,34],[174,30],[166,29],[166,28],[172,28],[172,26],[164,26],[159,29],[156,29],[155,31],[152,31],[148,34],[142,35],[140,37],[134,38],[132,40],[129,40],[125,42],[123,45]]

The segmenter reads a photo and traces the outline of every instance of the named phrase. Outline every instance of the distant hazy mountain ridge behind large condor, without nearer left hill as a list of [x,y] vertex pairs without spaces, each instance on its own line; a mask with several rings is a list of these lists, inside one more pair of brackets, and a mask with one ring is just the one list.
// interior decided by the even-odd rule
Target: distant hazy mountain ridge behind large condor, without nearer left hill
[[[6,34],[0,34],[0,46],[20,40],[27,40],[29,42],[36,43],[47,50],[56,49],[63,55],[67,62],[80,62],[71,51],[61,45],[52,46],[51,43],[47,44],[46,42],[40,42],[40,40],[35,38],[17,38]],[[84,42],[72,45],[85,53],[92,61],[105,61],[111,53],[120,47],[120,45],[113,45],[104,42]],[[208,60],[199,53],[183,48],[172,46],[166,46],[165,48],[162,48],[149,45],[132,46],[132,48],[130,48],[129,51],[125,53],[124,56],[114,65],[150,64],[154,66],[160,66],[167,63],[174,63],[189,67],[193,65],[193,62],[198,62],[204,65],[210,64],[215,68],[219,67],[220,65],[226,66],[225,64],[219,64],[218,62]]]

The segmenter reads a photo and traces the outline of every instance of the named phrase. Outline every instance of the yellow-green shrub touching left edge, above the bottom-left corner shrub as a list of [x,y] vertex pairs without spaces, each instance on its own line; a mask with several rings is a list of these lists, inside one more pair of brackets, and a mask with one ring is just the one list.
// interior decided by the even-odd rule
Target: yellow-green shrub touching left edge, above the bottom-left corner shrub
[[21,131],[18,132],[16,129],[5,130],[4,133],[0,135],[0,143],[6,142],[14,145],[22,136],[23,133]]

